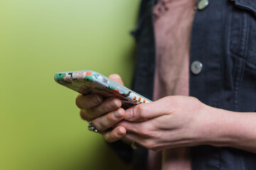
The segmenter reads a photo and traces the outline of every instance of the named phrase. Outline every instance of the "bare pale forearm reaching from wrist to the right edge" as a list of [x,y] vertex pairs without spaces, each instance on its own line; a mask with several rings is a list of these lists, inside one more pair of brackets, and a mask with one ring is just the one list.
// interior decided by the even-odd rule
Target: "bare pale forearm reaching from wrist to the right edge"
[[256,113],[225,111],[210,106],[206,106],[206,111],[212,115],[208,118],[206,144],[256,153]]

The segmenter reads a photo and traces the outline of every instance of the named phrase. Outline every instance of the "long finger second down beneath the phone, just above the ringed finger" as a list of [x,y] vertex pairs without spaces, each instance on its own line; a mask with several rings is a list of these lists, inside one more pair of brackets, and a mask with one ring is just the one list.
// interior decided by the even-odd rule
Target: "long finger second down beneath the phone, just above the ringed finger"
[[80,115],[85,120],[92,120],[105,113],[115,111],[122,106],[122,101],[119,98],[107,98],[100,106],[94,108],[83,109],[80,111]]

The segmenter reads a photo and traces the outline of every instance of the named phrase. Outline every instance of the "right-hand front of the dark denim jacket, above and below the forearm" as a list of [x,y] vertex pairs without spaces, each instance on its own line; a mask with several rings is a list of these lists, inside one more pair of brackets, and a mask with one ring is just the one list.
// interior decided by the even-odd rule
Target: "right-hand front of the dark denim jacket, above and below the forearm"
[[[190,74],[190,95],[230,111],[256,110],[256,6],[249,0],[210,1],[196,13],[191,62],[203,63]],[[246,114],[246,113],[245,113]],[[192,148],[193,169],[256,169],[256,155],[228,147]]]

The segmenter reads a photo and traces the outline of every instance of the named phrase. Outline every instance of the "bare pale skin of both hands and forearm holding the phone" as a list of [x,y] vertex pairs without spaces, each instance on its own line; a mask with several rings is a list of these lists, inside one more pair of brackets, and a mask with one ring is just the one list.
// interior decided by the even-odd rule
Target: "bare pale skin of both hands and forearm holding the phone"
[[[123,84],[117,74],[110,79]],[[256,113],[213,108],[196,98],[168,96],[124,111],[119,98],[79,95],[84,120],[92,120],[107,142],[137,142],[155,151],[198,145],[234,147],[256,153]]]

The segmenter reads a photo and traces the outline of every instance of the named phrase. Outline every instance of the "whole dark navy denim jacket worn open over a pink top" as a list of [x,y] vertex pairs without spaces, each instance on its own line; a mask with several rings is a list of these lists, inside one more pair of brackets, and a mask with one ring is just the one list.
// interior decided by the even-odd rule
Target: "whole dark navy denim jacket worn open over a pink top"
[[[151,10],[142,0],[137,39],[134,91],[153,95],[155,47]],[[256,1],[209,0],[196,11],[191,33],[190,63],[200,61],[200,74],[190,73],[190,96],[229,111],[256,110]],[[246,114],[246,113],[245,113]],[[146,169],[146,149],[134,151],[134,169]],[[256,154],[229,147],[191,147],[193,169],[256,169]]]

